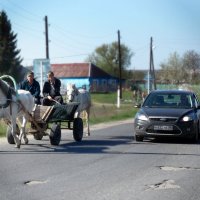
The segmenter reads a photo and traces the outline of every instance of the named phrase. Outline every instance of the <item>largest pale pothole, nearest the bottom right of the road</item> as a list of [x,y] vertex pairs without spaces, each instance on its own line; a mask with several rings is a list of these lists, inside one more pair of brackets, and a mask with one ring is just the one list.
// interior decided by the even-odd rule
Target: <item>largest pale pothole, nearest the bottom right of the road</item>
[[148,185],[148,188],[146,189],[146,191],[148,190],[165,190],[165,189],[178,189],[180,188],[179,185],[175,184],[174,180],[164,180],[160,183],[156,183],[154,185]]

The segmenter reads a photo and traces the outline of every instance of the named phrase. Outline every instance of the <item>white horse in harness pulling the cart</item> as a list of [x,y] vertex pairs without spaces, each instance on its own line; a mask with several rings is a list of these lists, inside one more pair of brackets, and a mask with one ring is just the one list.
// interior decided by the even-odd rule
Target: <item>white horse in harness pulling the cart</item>
[[[34,107],[34,98],[30,92],[11,88],[5,81],[0,79],[0,118],[11,126],[12,136],[16,147],[20,148],[23,136],[25,144],[28,143],[25,127],[29,120],[27,113],[31,113]],[[26,112],[24,112],[26,110]],[[17,118],[21,122],[20,135],[17,135]]]

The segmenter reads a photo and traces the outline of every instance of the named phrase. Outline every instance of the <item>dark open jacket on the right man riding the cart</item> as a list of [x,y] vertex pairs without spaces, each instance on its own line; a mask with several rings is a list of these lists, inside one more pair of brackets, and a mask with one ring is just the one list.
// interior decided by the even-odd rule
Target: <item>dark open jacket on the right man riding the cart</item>
[[51,96],[52,98],[54,98],[55,96],[61,96],[61,94],[60,94],[61,81],[58,78],[55,78],[55,77],[54,77],[54,79],[55,79],[54,95],[50,95],[51,83],[50,83],[50,81],[46,81],[44,83],[43,90],[42,90],[44,97]]

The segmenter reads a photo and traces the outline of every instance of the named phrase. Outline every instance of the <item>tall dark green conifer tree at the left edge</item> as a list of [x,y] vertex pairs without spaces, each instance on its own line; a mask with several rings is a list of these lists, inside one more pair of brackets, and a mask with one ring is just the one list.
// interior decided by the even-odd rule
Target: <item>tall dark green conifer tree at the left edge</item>
[[5,11],[0,12],[0,75],[9,74],[16,81],[20,79],[20,50],[17,49],[17,34],[11,28]]

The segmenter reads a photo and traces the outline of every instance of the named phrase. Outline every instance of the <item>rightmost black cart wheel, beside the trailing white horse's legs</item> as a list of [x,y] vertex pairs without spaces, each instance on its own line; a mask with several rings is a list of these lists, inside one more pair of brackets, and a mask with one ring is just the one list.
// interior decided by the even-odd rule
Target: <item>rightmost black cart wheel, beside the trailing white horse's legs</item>
[[81,118],[74,119],[73,137],[77,142],[80,142],[83,138],[83,120]]

